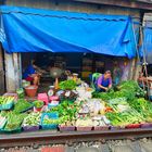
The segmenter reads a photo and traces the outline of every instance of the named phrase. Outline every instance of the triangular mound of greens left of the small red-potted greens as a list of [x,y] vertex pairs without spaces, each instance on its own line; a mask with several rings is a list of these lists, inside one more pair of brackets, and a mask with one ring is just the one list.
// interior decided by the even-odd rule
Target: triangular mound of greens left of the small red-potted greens
[[33,103],[27,102],[24,99],[20,99],[20,100],[17,100],[17,103],[14,105],[13,112],[16,114],[22,113],[22,112],[24,112],[33,106],[34,106]]

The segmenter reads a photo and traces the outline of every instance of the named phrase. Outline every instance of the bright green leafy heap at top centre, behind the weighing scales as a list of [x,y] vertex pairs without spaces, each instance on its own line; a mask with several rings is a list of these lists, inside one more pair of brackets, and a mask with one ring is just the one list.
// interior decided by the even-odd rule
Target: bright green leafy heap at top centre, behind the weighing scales
[[77,86],[76,81],[72,79],[64,80],[59,84],[61,90],[74,90],[76,89],[76,86]]

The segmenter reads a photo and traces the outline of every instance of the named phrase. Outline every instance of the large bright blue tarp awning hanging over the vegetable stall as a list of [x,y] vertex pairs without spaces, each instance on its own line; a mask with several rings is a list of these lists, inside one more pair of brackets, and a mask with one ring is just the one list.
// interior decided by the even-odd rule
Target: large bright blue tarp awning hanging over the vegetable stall
[[12,52],[94,52],[136,56],[131,18],[1,7],[0,41]]

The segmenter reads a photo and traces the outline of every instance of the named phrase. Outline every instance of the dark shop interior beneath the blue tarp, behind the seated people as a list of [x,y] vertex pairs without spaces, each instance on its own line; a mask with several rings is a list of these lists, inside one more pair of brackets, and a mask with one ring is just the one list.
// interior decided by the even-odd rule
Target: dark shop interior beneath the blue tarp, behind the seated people
[[113,74],[115,62],[117,62],[116,66],[124,69],[127,61],[124,58],[115,58],[96,53],[22,53],[23,73],[30,64],[31,60],[35,60],[38,67],[46,71],[40,78],[39,88],[45,89],[42,91],[48,90],[49,86],[52,86],[54,83],[54,78],[50,76],[50,68],[52,67],[59,67],[63,71],[63,74],[59,77],[59,80],[66,79],[67,76],[65,71],[69,71],[71,74],[78,74],[79,78],[89,84],[90,75],[92,73],[103,74],[109,69]]

